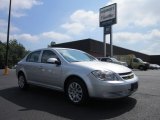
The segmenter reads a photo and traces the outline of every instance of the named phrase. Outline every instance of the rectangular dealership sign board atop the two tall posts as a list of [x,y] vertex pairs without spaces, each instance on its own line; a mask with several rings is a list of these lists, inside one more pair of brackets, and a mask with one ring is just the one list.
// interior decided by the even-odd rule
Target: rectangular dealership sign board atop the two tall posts
[[100,8],[99,14],[100,27],[111,26],[117,23],[117,4]]

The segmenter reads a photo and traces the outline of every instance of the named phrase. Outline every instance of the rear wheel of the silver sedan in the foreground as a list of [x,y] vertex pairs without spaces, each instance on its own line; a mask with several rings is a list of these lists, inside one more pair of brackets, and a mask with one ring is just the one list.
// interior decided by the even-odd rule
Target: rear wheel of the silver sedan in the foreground
[[22,73],[18,75],[18,86],[22,90],[26,90],[28,88],[26,78]]

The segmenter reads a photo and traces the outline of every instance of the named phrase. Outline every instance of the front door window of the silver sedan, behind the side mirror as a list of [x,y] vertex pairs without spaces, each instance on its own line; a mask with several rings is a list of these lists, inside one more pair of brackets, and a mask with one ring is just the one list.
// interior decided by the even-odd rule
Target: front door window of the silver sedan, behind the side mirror
[[50,50],[44,50],[41,58],[42,63],[47,63],[49,58],[57,58],[56,54]]

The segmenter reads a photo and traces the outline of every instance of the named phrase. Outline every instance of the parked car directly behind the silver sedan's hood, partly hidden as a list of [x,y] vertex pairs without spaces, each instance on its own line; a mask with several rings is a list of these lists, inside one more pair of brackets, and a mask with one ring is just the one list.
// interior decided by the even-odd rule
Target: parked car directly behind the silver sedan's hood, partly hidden
[[126,62],[119,61],[116,58],[112,58],[112,57],[97,57],[97,59],[104,62],[111,62],[119,65],[124,65],[126,67],[128,66]]

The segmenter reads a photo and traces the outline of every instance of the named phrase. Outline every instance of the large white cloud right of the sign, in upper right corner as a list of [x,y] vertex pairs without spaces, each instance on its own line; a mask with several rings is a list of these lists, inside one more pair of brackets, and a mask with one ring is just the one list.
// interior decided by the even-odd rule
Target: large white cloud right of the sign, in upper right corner
[[117,3],[117,28],[149,27],[160,22],[159,0],[111,0],[108,4]]

